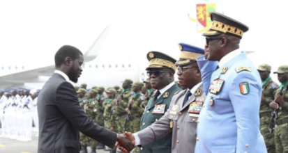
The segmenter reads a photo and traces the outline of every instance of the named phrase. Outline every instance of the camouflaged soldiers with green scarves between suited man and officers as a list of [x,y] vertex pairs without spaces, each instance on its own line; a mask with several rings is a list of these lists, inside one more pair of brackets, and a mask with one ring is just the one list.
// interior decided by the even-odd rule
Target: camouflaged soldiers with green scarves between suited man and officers
[[[122,82],[122,88],[114,86],[106,90],[102,86],[93,86],[87,90],[86,84],[82,83],[80,87],[75,86],[75,90],[79,104],[89,118],[119,134],[123,134],[124,131],[140,130],[144,108],[149,97],[153,95],[149,79],[143,83],[139,81],[133,83],[132,80],[126,79]],[[116,148],[105,147],[84,134],[80,134],[80,143],[82,153],[87,152],[87,146],[91,147],[91,153],[95,153],[96,149],[116,152]]]

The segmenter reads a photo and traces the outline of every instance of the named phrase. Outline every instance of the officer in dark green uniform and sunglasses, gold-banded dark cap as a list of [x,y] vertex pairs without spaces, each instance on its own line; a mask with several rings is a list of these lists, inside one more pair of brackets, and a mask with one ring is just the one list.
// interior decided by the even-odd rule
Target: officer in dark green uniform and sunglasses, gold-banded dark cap
[[[141,119],[141,129],[157,122],[169,108],[175,92],[181,90],[174,83],[176,60],[158,51],[149,51],[147,54],[149,67],[146,68],[152,88],[156,89],[149,99]],[[171,152],[172,131],[166,136],[141,147],[141,153]]]

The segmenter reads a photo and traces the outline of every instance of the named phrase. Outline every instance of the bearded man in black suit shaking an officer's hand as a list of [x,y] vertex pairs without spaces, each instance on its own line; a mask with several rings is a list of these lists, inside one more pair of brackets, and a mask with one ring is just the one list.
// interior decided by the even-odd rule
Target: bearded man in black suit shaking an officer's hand
[[75,88],[82,72],[83,54],[65,45],[55,54],[55,72],[38,97],[38,153],[79,153],[79,131],[113,147],[116,141],[130,150],[132,144],[122,135],[95,124],[79,106]]

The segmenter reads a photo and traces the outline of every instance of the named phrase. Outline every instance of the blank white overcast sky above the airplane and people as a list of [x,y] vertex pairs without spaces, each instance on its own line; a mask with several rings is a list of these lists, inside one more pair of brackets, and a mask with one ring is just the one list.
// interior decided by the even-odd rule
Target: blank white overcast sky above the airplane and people
[[216,3],[217,11],[249,26],[241,49],[255,51],[250,55],[255,66],[271,63],[277,70],[287,64],[284,0],[7,0],[0,1],[0,65],[52,65],[62,45],[84,53],[108,25],[112,28],[99,54],[103,59],[144,62],[153,50],[178,58],[179,42],[204,45],[197,23],[188,19],[196,18],[196,3]]

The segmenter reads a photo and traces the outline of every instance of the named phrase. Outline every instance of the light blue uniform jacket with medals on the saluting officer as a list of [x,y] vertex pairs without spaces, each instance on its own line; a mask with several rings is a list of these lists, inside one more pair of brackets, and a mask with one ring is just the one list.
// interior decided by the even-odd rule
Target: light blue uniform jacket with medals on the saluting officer
[[208,94],[199,115],[195,153],[267,152],[259,130],[262,82],[246,54],[218,70],[215,62],[197,62]]

